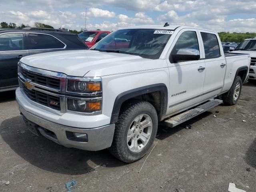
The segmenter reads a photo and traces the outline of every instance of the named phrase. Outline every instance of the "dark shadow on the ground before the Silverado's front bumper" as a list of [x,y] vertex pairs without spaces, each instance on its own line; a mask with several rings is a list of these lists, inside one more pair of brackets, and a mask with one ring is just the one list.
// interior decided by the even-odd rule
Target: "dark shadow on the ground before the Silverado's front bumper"
[[43,136],[34,136],[27,130],[22,116],[4,120],[0,124],[0,135],[16,154],[46,172],[77,175],[92,172],[98,165],[106,167],[126,165],[114,158],[107,149],[93,152],[66,148]]

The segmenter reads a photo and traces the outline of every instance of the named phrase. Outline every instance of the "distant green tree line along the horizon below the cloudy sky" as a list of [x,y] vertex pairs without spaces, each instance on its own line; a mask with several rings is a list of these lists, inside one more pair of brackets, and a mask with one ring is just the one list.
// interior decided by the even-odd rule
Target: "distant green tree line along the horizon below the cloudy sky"
[[[2,29],[22,29],[25,27],[29,27],[28,25],[25,24],[21,24],[20,26],[17,26],[15,23],[7,23],[7,22],[1,22],[0,23],[0,28]],[[40,22],[35,22],[34,23],[34,27],[39,27],[39,28],[51,28],[53,29],[53,26],[47,25],[47,24],[43,24]],[[62,28],[62,30],[68,30],[66,28]],[[100,30],[100,29],[97,29]],[[72,33],[76,33],[76,34],[80,34],[83,29],[81,30],[68,30],[69,32]],[[250,33],[250,32],[246,32],[246,33],[237,33],[237,32],[219,32],[218,33],[220,36],[220,40],[222,42],[241,42],[244,39],[248,39],[248,38],[254,38],[256,37],[256,33]]]

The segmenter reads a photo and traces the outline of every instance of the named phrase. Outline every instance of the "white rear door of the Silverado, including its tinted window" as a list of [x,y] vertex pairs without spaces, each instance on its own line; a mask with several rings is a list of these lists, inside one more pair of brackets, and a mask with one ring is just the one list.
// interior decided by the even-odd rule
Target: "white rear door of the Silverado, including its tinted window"
[[199,30],[206,66],[202,100],[218,95],[224,84],[226,60],[220,50],[220,39],[214,32]]

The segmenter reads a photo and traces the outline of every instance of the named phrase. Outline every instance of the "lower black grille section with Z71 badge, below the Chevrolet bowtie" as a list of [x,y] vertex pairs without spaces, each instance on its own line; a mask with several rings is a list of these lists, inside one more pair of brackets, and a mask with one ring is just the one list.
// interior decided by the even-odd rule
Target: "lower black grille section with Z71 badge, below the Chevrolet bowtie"
[[22,82],[20,82],[20,84],[22,85],[26,96],[32,101],[60,111],[60,97],[52,96],[37,90],[29,90]]

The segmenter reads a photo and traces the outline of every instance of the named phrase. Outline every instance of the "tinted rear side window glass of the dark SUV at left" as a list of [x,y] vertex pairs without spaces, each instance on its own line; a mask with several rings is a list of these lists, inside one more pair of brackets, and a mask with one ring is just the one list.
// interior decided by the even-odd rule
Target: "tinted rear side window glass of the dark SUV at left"
[[44,34],[28,34],[28,49],[59,49],[64,48],[64,44],[58,39]]

